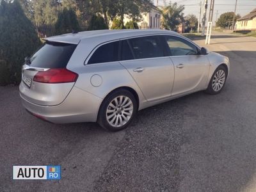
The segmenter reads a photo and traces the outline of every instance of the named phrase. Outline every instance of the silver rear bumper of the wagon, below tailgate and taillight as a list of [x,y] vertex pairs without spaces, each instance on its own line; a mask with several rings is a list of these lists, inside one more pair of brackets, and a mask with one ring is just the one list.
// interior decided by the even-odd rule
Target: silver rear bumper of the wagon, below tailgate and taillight
[[22,105],[33,115],[56,124],[96,122],[102,99],[74,86],[67,98],[56,106],[41,106],[20,95]]

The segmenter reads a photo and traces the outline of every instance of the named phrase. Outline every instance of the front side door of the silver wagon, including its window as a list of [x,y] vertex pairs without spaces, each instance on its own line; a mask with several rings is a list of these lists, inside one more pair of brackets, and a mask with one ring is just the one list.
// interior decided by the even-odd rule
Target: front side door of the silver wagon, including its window
[[207,56],[200,55],[198,48],[185,38],[166,35],[165,40],[175,68],[172,96],[205,88],[210,65]]

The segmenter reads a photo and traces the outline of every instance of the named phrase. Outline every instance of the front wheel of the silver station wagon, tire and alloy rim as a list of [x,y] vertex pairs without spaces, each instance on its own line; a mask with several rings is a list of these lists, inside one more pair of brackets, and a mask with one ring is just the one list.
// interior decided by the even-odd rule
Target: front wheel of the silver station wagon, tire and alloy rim
[[209,82],[209,85],[205,92],[212,95],[220,93],[226,83],[226,80],[227,69],[221,65],[214,71],[211,77],[211,81]]

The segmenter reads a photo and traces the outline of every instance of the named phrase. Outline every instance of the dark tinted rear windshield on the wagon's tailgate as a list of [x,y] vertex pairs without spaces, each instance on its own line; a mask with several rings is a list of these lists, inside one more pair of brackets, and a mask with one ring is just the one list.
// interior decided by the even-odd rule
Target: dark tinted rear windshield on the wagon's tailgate
[[46,42],[30,58],[31,67],[66,68],[77,45]]

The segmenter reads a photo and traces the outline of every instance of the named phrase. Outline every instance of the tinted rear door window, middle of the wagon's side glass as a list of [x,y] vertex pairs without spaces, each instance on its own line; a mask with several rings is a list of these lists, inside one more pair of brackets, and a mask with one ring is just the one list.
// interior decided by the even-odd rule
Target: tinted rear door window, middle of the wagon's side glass
[[144,36],[129,39],[136,59],[163,57],[163,46],[157,36]]

